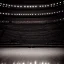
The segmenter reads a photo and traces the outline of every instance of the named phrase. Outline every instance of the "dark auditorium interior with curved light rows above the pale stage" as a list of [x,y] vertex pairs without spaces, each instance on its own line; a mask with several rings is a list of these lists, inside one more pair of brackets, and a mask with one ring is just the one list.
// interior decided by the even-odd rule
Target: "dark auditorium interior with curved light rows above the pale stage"
[[64,46],[64,1],[0,0],[0,45]]

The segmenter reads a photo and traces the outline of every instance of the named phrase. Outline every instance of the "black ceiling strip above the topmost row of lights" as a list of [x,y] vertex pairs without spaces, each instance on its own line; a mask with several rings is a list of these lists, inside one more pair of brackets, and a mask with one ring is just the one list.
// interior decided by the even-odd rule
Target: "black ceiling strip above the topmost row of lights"
[[47,4],[58,1],[62,0],[0,0],[0,2],[11,4]]

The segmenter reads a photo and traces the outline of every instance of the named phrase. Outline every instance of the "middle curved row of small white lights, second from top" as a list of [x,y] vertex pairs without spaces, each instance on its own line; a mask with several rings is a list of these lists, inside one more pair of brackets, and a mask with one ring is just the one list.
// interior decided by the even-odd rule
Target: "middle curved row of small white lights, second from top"
[[53,15],[58,13],[63,13],[64,10],[56,12],[47,12],[47,13],[4,13],[0,12],[0,15],[11,15],[11,16],[43,16],[43,15]]

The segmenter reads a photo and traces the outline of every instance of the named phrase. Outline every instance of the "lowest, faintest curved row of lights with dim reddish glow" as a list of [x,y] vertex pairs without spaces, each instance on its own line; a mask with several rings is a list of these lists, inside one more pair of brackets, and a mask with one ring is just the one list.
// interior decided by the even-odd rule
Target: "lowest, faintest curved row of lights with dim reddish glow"
[[[23,24],[23,23],[51,23],[51,22],[58,22],[64,21],[64,18],[56,19],[56,20],[42,20],[42,21],[11,21],[13,24]],[[10,21],[0,21],[0,23],[9,23]]]

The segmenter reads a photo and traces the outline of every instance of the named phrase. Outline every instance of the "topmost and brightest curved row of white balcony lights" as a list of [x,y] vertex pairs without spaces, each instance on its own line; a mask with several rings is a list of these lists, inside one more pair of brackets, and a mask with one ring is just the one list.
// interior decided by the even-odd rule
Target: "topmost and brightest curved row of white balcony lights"
[[64,1],[52,3],[52,4],[45,4],[45,5],[12,5],[12,4],[4,4],[0,3],[0,6],[7,7],[7,8],[47,8],[47,7],[56,7],[59,5],[64,4]]

